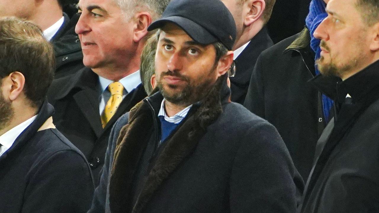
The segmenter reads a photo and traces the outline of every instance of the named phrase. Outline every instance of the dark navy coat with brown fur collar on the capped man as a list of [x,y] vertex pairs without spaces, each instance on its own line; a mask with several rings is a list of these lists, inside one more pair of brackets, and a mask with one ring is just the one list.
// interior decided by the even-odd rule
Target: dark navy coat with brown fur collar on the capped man
[[[303,183],[276,129],[227,99],[222,105],[195,103],[176,132],[146,158],[160,138],[162,99],[154,94],[114,125],[89,213],[296,210]],[[201,122],[202,113],[210,123]],[[142,186],[137,190],[136,182]]]

